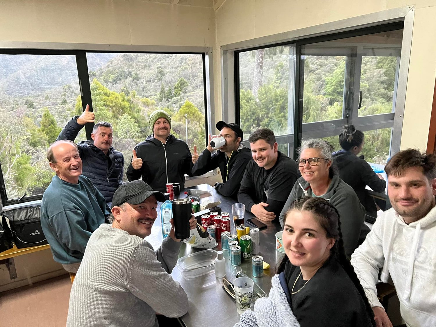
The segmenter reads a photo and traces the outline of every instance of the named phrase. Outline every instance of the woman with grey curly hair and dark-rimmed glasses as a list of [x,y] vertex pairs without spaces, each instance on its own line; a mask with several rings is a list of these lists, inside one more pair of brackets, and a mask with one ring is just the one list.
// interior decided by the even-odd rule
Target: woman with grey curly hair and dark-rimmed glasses
[[364,224],[365,209],[354,190],[339,178],[331,152],[332,146],[327,141],[303,140],[296,160],[301,177],[294,184],[279,221],[283,226],[283,218],[294,200],[302,196],[324,198],[339,212],[345,253],[351,257],[364,241],[369,228]]

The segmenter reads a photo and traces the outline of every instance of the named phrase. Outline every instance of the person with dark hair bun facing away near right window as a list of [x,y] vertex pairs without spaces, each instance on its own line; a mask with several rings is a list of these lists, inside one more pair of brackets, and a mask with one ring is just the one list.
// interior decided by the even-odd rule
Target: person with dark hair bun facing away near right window
[[339,170],[341,180],[353,187],[367,215],[377,217],[374,198],[368,194],[366,185],[375,192],[384,192],[386,181],[380,174],[375,174],[371,166],[358,154],[362,151],[365,136],[353,125],[345,125],[339,134],[342,150],[334,152],[333,159]]

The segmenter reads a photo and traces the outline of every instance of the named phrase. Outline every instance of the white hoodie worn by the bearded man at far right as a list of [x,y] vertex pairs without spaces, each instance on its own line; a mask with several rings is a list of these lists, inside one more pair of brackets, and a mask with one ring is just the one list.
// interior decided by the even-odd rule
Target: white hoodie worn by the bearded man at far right
[[394,208],[377,217],[351,256],[371,307],[382,307],[375,284],[392,278],[409,327],[436,326],[436,207],[407,225]]

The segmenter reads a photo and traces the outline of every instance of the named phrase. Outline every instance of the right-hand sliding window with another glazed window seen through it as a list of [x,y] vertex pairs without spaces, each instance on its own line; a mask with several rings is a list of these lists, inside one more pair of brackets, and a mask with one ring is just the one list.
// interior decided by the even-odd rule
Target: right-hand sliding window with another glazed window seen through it
[[365,159],[384,164],[392,144],[402,34],[402,23],[396,23],[235,51],[235,111],[244,133],[269,127],[294,157],[294,142],[307,138],[327,139],[339,150],[342,126],[353,124],[365,134]]

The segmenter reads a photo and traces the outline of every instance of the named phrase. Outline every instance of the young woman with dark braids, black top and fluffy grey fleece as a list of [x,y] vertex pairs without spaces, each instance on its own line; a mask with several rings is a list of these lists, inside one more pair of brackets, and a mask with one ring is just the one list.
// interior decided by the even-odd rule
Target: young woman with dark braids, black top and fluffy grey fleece
[[326,199],[302,197],[284,217],[285,256],[267,298],[235,327],[368,327],[374,313],[344,252],[341,221]]

